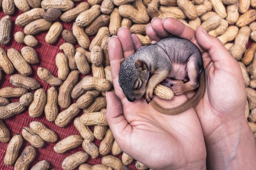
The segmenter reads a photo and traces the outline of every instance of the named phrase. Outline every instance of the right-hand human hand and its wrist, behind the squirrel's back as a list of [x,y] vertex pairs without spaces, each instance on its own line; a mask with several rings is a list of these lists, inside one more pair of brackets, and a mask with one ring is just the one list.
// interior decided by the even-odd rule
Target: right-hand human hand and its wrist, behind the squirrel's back
[[[253,143],[250,150],[255,152],[252,132],[245,120],[247,97],[243,75],[238,62],[220,40],[207,34],[202,27],[194,31],[174,18],[154,18],[146,32],[153,43],[170,35],[190,40],[202,53],[207,75],[206,91],[194,108],[206,142],[209,169],[227,170],[224,165],[229,165],[228,168],[232,169],[230,164],[233,163],[231,160],[234,156],[231,152],[234,155],[245,154],[245,150],[249,149],[244,147],[245,142]],[[191,97],[193,93],[187,95]],[[237,147],[238,145],[243,147]],[[247,169],[249,164],[247,160],[239,163],[247,164],[241,169]]]

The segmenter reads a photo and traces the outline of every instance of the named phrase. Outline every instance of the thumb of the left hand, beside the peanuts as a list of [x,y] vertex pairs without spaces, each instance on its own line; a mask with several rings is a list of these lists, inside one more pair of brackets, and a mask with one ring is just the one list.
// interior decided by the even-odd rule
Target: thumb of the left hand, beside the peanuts
[[126,121],[123,116],[122,106],[120,100],[117,98],[115,93],[107,92],[107,111],[106,120],[108,125],[117,141],[118,144],[123,145],[124,141],[130,141],[126,139],[132,132],[132,127]]

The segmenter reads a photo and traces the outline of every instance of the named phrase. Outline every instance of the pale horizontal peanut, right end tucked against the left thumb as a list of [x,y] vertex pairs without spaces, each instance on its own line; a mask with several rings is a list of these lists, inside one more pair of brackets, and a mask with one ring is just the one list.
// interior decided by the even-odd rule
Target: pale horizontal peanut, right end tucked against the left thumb
[[84,113],[80,117],[80,121],[82,124],[86,126],[92,126],[92,125],[107,126],[108,125],[104,112]]

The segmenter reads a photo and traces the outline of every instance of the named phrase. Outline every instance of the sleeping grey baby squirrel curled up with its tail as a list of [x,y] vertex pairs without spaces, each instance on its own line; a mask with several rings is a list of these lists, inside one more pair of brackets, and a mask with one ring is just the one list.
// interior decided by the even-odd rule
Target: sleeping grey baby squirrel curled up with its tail
[[[182,106],[165,109],[151,101],[155,87],[161,82],[171,88],[175,95],[199,88]],[[142,46],[136,53],[121,61],[119,84],[130,102],[145,94],[146,101],[151,101],[152,106],[159,112],[168,115],[182,113],[204,95],[205,72],[200,50],[189,40],[177,37]]]

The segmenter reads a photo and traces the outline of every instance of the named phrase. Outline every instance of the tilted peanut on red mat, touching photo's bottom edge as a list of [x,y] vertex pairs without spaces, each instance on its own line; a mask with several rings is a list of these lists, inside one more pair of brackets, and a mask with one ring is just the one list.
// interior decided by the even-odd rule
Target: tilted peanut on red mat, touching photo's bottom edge
[[68,157],[66,157],[62,162],[62,168],[64,170],[74,170],[77,166],[85,163],[89,155],[86,152],[79,151]]

